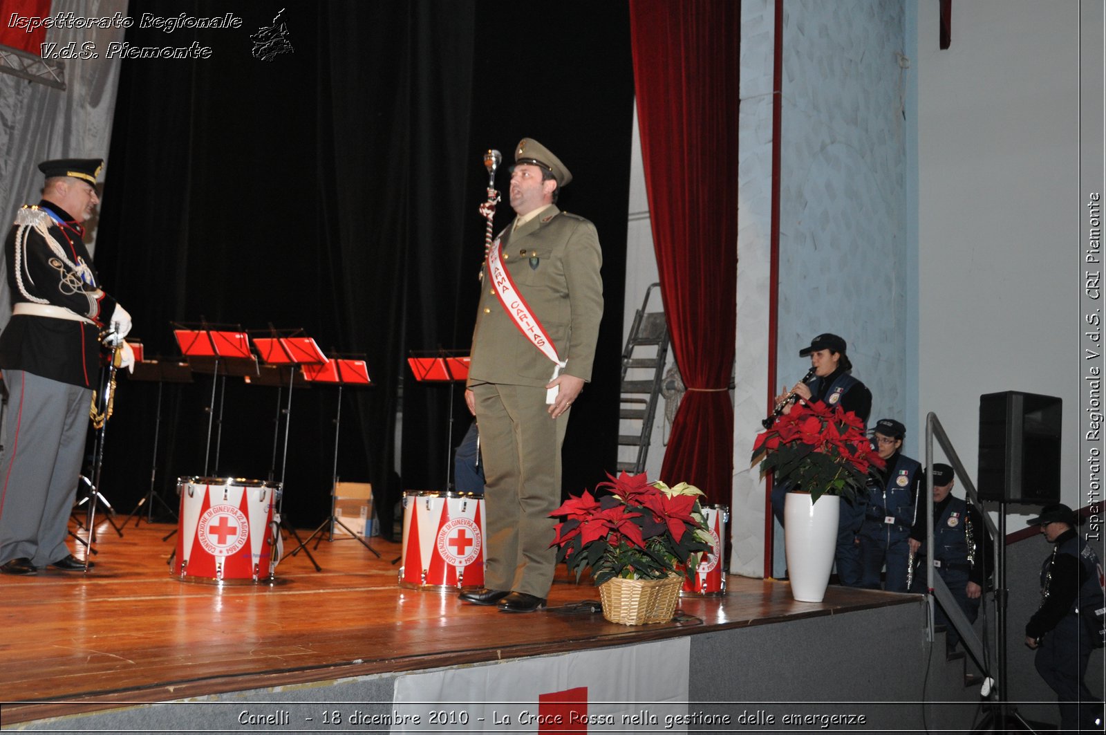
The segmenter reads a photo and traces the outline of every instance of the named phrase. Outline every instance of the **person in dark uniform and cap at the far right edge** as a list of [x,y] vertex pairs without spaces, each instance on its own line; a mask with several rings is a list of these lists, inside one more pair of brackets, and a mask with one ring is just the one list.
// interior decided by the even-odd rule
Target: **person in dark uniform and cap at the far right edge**
[[1079,539],[1075,514],[1066,505],[1045,506],[1026,524],[1040,526],[1054,546],[1041,567],[1041,608],[1025,625],[1025,645],[1036,651],[1037,673],[1056,693],[1061,729],[1100,733],[1102,700],[1083,681],[1096,631],[1079,614],[1103,605],[1098,555]]

